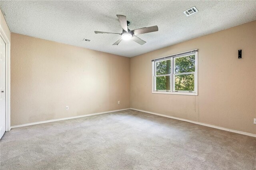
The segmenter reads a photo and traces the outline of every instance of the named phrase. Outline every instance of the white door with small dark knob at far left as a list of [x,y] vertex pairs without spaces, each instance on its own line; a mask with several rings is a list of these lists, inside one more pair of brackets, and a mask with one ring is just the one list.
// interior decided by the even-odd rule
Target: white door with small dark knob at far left
[[0,37],[0,139],[6,131],[5,117],[5,43]]

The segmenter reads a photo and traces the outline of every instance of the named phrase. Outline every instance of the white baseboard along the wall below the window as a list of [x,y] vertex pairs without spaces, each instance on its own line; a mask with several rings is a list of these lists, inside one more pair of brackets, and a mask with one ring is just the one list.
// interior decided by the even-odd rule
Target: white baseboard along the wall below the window
[[137,110],[137,111],[142,111],[142,112],[145,112],[145,113],[150,113],[150,114],[153,114],[153,115],[159,115],[159,116],[163,116],[163,117],[169,117],[169,118],[172,118],[172,119],[187,121],[187,122],[190,122],[190,123],[195,123],[195,124],[198,124],[198,125],[203,125],[203,126],[207,126],[207,127],[212,127],[212,128],[215,128],[215,129],[220,129],[220,130],[224,130],[224,131],[229,131],[229,132],[239,133],[239,134],[242,134],[242,135],[247,135],[247,136],[251,136],[251,137],[256,137],[256,135],[255,135],[255,134],[252,134],[252,133],[247,133],[247,132],[242,132],[242,131],[236,131],[236,130],[227,129],[227,128],[224,128],[224,127],[209,125],[209,124],[200,123],[200,122],[197,122],[197,121],[191,121],[191,120],[188,120],[188,119],[182,119],[182,118],[178,118],[178,117],[173,117],[173,116],[168,116],[168,115],[162,115],[162,114],[154,113],[154,112],[151,112],[151,111],[145,111],[145,110],[134,109],[134,108],[130,108],[130,109]]

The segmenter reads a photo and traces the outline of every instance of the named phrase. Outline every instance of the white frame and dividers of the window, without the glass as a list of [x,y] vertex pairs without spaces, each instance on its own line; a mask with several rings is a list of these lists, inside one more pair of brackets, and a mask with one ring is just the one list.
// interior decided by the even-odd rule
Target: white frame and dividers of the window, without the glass
[[[198,96],[198,50],[192,50],[187,51],[183,53],[170,55],[167,57],[161,57],[158,59],[154,59],[157,61],[152,60],[152,93],[156,94],[179,94],[179,95],[192,95],[192,96]],[[183,73],[174,73],[174,59],[180,58],[180,57],[186,57],[189,55],[195,55],[195,71],[194,72],[183,72]],[[171,60],[171,72],[170,74],[162,74],[162,75],[156,75],[156,62],[160,61],[166,61]],[[175,75],[179,74],[194,74],[194,91],[174,91],[175,86]],[[158,76],[170,76],[170,90],[156,90],[156,77]]]

